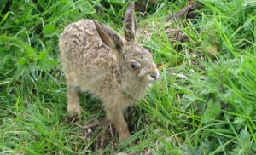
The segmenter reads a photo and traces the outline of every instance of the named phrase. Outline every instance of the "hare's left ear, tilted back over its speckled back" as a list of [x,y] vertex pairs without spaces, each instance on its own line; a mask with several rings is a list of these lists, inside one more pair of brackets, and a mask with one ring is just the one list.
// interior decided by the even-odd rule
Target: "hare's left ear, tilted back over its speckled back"
[[111,49],[116,49],[118,51],[123,49],[125,43],[123,42],[122,38],[119,37],[119,34],[97,20],[93,20],[93,22],[103,43],[105,43]]

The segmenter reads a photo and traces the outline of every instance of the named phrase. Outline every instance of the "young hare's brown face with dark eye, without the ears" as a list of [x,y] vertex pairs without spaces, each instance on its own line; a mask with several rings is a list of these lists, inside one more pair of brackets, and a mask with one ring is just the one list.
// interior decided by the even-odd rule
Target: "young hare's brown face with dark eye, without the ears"
[[154,64],[151,53],[137,43],[128,43],[124,49],[125,67],[130,71],[130,77],[146,83],[159,78],[159,72]]

